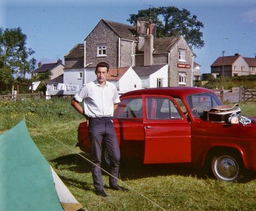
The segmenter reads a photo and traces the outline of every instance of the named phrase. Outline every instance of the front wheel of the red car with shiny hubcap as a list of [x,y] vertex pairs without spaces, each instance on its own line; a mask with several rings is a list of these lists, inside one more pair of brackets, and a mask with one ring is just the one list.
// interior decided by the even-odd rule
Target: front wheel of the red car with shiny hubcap
[[242,164],[236,155],[219,153],[212,157],[212,173],[218,180],[234,182],[241,173]]

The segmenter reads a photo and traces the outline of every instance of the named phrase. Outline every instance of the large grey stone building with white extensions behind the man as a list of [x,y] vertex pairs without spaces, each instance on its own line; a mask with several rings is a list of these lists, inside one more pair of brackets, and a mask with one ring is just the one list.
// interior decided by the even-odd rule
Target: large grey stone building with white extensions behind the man
[[[140,87],[191,86],[193,52],[186,40],[182,36],[154,36],[156,24],[147,19],[138,19],[136,27],[100,20],[84,43],[77,44],[65,56],[63,83],[77,84],[80,89],[95,79],[97,63],[106,61],[111,69],[127,70],[123,77],[115,78],[126,81],[119,82],[120,92]],[[141,85],[127,83],[132,77],[140,78]]]

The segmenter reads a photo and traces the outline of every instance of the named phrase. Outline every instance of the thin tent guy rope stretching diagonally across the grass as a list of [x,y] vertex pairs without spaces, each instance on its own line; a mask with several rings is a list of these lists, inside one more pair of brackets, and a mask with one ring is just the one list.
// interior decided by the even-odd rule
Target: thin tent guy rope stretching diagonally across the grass
[[[24,120],[26,120],[25,116],[24,116]],[[34,123],[32,123],[29,120],[26,120],[28,123],[30,123],[31,125],[35,126],[36,128],[38,127],[37,125],[35,125]],[[50,137],[52,137],[52,139],[54,139],[55,141],[57,141],[58,143],[60,143],[61,145],[67,147],[70,151],[76,153],[77,155],[79,155],[80,157],[83,157],[83,159],[87,160],[88,162],[90,162],[91,164],[95,165],[90,159],[87,159],[86,157],[84,157],[83,155],[81,155],[80,153],[78,153],[76,150],[74,150],[73,148],[71,148],[70,146],[65,145],[65,143],[63,143],[62,141],[60,141],[59,139],[57,139],[56,137],[52,136],[51,132],[49,132],[48,130],[42,129],[42,127],[40,127],[41,130],[44,130]],[[99,166],[97,166],[98,168],[100,168]],[[100,168],[102,171],[104,171],[105,173],[107,173],[109,176],[113,176],[111,175],[111,173],[109,173],[108,171],[106,171],[105,169]],[[116,178],[115,176],[113,176],[114,178]],[[132,189],[131,186],[127,185],[125,182],[123,182],[122,180],[116,178],[118,180],[118,182],[122,183],[123,185],[125,185],[126,187],[128,187],[129,189],[131,189],[132,191],[136,192],[137,194],[139,194],[140,196],[142,196],[143,198],[147,199],[148,201],[150,201],[154,206],[161,208],[161,210],[166,211],[163,207],[161,207],[160,205],[158,205],[156,202],[152,201],[150,198],[148,198],[147,196],[145,196],[144,194],[141,194],[141,192],[136,191],[135,189]]]

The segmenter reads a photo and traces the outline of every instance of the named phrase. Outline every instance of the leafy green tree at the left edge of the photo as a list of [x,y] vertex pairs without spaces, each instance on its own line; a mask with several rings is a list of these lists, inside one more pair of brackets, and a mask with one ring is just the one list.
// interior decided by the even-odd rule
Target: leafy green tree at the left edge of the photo
[[26,73],[31,72],[29,56],[34,51],[27,49],[26,40],[27,36],[22,33],[20,27],[5,30],[0,28],[1,86],[10,87],[6,82],[10,82],[9,79],[13,78],[13,75],[25,77]]

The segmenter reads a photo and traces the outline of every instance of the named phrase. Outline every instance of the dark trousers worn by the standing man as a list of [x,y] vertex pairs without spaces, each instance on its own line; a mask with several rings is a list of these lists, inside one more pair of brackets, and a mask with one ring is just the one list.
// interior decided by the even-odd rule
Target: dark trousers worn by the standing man
[[[91,154],[93,185],[96,190],[103,189],[102,175],[100,170],[102,142],[105,143],[110,158],[109,173],[118,178],[120,150],[116,138],[116,132],[112,117],[97,117],[89,120],[89,136],[91,141]],[[109,176],[109,186],[118,185],[118,181]]]

